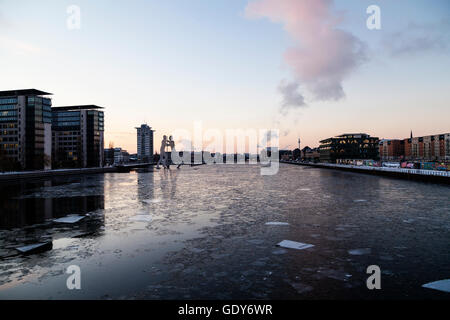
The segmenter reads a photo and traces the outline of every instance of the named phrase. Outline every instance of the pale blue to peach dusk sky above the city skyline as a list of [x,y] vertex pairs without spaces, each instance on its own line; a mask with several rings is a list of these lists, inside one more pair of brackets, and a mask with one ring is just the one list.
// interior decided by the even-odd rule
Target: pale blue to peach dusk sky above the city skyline
[[102,106],[129,152],[142,123],[278,129],[283,149],[450,132],[449,53],[447,0],[0,0],[0,90]]

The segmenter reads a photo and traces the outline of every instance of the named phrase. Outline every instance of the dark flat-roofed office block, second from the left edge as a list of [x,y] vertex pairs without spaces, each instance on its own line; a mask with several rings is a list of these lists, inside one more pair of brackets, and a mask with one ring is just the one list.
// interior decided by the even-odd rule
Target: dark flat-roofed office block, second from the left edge
[[96,105],[52,108],[53,167],[102,167],[104,114]]

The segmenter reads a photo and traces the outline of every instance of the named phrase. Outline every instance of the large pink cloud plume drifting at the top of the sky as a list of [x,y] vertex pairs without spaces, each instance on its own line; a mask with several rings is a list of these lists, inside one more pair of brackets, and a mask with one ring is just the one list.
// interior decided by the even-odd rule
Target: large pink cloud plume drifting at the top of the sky
[[345,96],[342,82],[366,60],[366,46],[339,29],[342,17],[333,12],[333,0],[257,0],[248,4],[246,14],[283,25],[295,41],[285,62],[315,99]]

